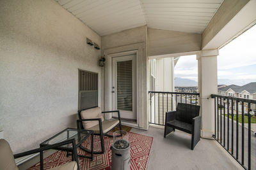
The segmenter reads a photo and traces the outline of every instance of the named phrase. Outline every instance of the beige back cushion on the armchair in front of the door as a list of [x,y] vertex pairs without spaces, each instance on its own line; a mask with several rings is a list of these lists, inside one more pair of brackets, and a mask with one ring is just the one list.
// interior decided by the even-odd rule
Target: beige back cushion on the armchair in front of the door
[[[82,119],[101,118],[101,121],[102,122],[104,121],[104,118],[102,117],[101,109],[99,107],[81,111],[81,118]],[[83,121],[84,129],[89,129],[90,127],[93,127],[98,124],[99,124],[99,121]]]

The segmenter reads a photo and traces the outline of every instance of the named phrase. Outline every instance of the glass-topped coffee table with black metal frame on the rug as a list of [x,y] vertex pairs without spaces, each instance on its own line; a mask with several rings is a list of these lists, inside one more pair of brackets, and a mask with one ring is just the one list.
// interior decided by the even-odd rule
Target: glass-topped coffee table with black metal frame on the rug
[[[91,150],[88,150],[82,146],[82,143],[87,138],[89,138],[89,136],[92,136]],[[60,143],[60,142],[67,141],[70,139],[75,139],[76,148],[81,148],[81,150],[91,153],[90,156],[77,154],[77,157],[84,157],[84,158],[93,160],[93,131],[88,131],[88,130],[84,130],[84,129],[77,130],[74,128],[67,128],[67,129],[64,129],[63,131],[59,132],[58,134],[55,134],[54,136],[47,139],[43,143],[40,143],[40,147]],[[63,146],[56,147],[54,149],[67,152],[67,156],[70,155],[70,152],[73,153],[72,145],[63,145]]]

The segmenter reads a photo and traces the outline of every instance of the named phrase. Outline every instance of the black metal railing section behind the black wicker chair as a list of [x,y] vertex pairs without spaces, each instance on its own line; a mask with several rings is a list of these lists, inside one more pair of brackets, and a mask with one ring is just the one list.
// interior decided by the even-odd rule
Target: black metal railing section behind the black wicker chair
[[199,105],[198,93],[149,91],[148,94],[150,99],[149,124],[164,125],[165,113],[176,110],[177,103]]

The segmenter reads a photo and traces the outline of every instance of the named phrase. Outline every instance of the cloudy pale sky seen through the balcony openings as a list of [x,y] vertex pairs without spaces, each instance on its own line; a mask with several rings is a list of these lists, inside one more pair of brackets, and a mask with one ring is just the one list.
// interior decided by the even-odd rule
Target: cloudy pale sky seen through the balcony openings
[[[218,84],[244,85],[256,81],[256,25],[219,51]],[[196,55],[182,56],[175,77],[197,81]]]

